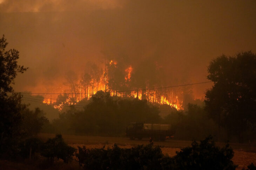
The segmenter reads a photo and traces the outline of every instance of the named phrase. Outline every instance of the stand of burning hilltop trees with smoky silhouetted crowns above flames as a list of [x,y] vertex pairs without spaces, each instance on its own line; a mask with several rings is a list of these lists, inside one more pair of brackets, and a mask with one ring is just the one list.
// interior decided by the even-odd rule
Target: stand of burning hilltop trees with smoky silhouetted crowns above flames
[[[65,100],[64,96],[58,96],[54,107],[61,109],[63,104],[76,104],[81,100],[88,100],[97,91],[102,91],[110,93],[111,96],[134,97],[181,109],[182,101],[178,99],[175,90],[156,88],[167,85],[162,68],[154,61],[142,62],[139,65],[143,66],[134,67],[132,64],[109,60],[101,68],[95,63],[87,63],[81,78],[74,71],[68,71],[65,76],[68,89],[62,88],[62,93],[69,94],[65,96]],[[59,102],[61,104],[58,106]]]

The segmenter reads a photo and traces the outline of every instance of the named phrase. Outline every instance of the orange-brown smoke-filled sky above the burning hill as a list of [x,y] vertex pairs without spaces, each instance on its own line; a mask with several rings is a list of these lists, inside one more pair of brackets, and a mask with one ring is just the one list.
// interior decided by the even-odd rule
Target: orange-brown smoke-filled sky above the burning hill
[[[0,0],[0,34],[29,70],[15,91],[52,92],[72,70],[105,59],[163,72],[162,85],[207,81],[222,54],[256,52],[256,1]],[[210,84],[193,86],[202,98]]]

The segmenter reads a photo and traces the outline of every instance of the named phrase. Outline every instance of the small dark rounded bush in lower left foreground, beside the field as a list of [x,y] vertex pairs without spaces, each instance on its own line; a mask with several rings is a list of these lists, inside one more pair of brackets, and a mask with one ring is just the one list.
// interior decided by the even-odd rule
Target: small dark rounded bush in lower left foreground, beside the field
[[54,161],[54,157],[57,159],[62,159],[65,163],[68,163],[73,159],[75,148],[68,146],[62,135],[56,134],[55,138],[48,139],[43,144],[41,155],[47,157],[52,163]]

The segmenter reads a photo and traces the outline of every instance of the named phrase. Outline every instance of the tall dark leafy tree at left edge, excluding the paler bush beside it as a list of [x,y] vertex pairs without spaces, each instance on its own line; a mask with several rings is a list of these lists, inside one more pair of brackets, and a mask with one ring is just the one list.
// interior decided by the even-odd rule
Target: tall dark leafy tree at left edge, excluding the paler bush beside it
[[7,44],[3,36],[0,39],[0,153],[11,152],[18,141],[22,133],[21,113],[26,108],[21,104],[21,95],[14,93],[11,84],[14,84],[17,73],[23,73],[27,68],[17,64],[19,51],[5,50]]

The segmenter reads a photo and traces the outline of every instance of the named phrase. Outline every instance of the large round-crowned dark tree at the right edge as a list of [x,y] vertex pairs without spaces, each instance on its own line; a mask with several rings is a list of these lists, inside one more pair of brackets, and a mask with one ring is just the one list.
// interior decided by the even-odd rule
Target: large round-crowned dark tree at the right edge
[[206,92],[207,111],[243,142],[244,132],[255,128],[256,54],[248,51],[234,57],[222,55],[210,62],[208,73],[214,86]]

